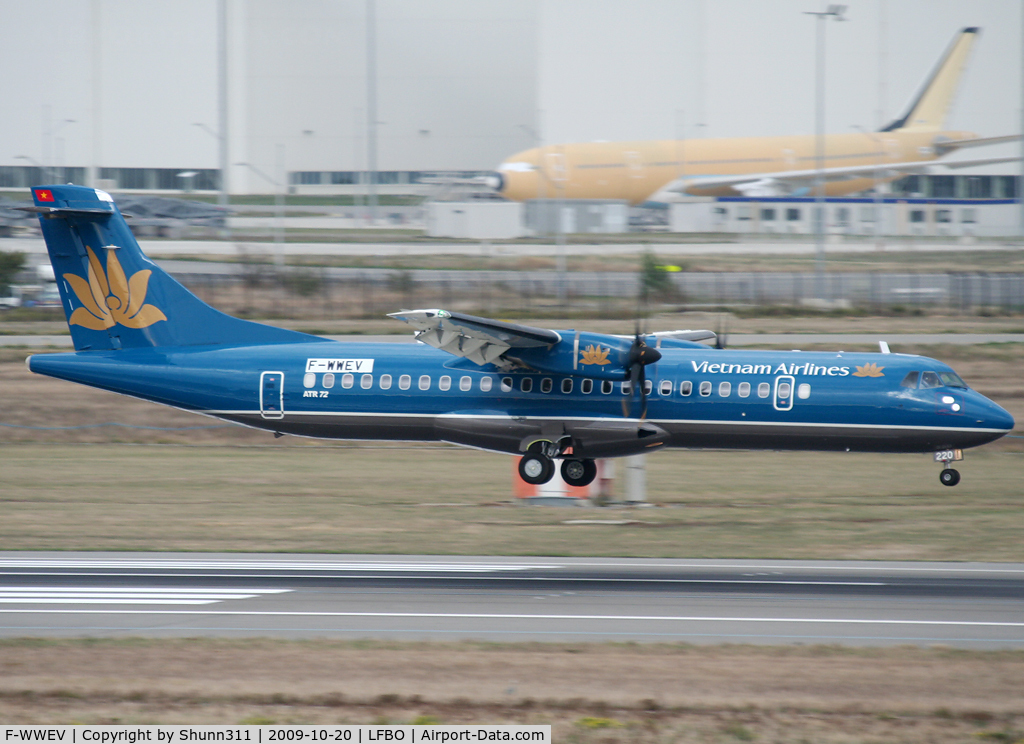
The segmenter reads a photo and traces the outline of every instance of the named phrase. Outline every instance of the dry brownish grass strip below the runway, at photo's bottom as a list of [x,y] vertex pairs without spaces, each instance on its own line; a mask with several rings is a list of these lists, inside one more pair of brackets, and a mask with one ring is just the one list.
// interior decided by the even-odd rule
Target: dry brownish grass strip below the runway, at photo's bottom
[[577,742],[1016,741],[1024,655],[270,640],[0,642],[7,724],[552,724]]

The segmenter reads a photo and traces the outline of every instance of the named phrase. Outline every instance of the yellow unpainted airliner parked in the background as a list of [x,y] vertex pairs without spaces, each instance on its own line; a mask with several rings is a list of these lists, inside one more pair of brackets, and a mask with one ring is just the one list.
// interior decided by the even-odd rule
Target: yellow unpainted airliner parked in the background
[[[927,172],[939,158],[964,147],[1019,138],[943,130],[978,33],[971,28],[955,36],[904,116],[879,132],[823,138],[821,174],[826,195],[862,191],[876,182]],[[966,168],[1015,160],[989,158],[942,165]],[[640,204],[672,202],[682,195],[817,195],[818,173],[817,138],[801,135],[556,144],[514,155],[483,180],[515,201],[596,199]]]

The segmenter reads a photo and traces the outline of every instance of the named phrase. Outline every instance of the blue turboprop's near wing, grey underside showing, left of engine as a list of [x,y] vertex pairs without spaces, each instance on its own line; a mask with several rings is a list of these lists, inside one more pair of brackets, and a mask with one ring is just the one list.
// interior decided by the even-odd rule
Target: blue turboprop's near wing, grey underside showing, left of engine
[[388,313],[416,329],[416,338],[436,349],[489,364],[509,349],[548,347],[562,340],[554,331],[447,310],[402,310]]

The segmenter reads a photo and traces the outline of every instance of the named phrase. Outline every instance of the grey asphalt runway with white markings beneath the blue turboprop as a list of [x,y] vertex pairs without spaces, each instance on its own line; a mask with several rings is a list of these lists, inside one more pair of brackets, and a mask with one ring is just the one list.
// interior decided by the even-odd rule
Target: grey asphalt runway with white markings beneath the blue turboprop
[[0,636],[1024,648],[1024,564],[4,553]]

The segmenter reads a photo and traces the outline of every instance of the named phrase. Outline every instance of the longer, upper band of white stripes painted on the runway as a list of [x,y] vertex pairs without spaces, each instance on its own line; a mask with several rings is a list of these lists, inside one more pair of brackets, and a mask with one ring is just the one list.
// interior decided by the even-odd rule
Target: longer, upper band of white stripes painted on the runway
[[189,568],[211,570],[305,570],[305,571],[449,571],[483,573],[487,571],[527,571],[535,568],[561,568],[558,565],[516,563],[376,563],[343,561],[227,561],[227,560],[79,560],[50,558],[0,558],[0,568]]

